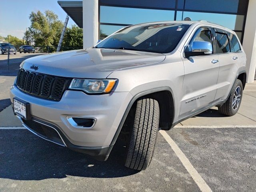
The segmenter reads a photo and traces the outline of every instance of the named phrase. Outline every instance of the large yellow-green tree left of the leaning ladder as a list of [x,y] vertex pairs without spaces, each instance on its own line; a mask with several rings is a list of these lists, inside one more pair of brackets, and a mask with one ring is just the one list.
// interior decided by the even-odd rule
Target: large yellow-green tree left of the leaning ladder
[[31,25],[24,33],[24,39],[26,36],[29,39],[27,43],[32,40],[38,46],[58,46],[63,23],[58,20],[54,12],[50,10],[46,10],[44,14],[40,11],[31,12],[29,19]]

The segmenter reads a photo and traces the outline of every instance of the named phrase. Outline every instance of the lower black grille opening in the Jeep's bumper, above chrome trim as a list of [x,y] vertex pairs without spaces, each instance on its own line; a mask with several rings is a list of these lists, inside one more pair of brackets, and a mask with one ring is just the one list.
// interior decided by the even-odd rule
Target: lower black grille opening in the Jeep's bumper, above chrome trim
[[51,128],[49,126],[46,126],[33,120],[22,121],[28,128],[30,128],[30,130],[35,132],[38,136],[64,146],[64,143],[60,138],[60,135],[54,128]]

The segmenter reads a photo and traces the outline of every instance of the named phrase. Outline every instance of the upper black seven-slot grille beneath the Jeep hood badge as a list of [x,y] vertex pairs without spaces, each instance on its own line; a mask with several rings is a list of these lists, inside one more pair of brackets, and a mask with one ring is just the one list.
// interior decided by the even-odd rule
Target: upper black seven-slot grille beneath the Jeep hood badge
[[70,78],[52,76],[20,69],[16,85],[28,94],[59,101]]

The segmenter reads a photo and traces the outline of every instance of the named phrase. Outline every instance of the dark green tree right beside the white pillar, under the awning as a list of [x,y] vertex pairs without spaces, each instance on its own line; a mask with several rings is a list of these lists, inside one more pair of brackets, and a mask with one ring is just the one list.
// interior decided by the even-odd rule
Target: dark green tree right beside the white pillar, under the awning
[[66,28],[64,34],[62,46],[64,47],[83,47],[83,29],[76,25],[72,25],[71,28]]

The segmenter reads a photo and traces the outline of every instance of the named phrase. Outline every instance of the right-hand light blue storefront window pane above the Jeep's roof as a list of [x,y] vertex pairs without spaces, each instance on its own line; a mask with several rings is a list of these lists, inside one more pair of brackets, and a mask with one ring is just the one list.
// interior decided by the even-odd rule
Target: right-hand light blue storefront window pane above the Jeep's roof
[[[219,13],[201,13],[201,12],[183,12],[183,19],[190,17],[192,21],[206,20],[222,25],[231,30],[242,30],[244,23],[243,15],[219,14]],[[176,20],[182,20],[182,11],[177,12]]]

